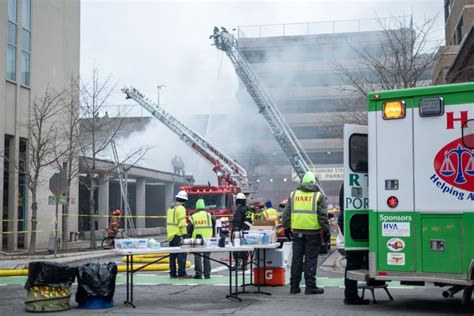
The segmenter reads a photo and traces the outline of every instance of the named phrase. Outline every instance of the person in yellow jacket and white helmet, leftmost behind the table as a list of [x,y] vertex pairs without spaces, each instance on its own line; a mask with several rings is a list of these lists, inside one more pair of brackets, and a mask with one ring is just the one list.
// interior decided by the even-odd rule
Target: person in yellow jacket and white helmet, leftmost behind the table
[[[171,204],[166,212],[166,235],[170,247],[180,247],[181,239],[186,235],[186,209],[184,203],[188,200],[188,193],[179,191],[175,197],[176,201]],[[178,260],[177,274],[176,260]],[[170,254],[170,278],[192,278],[192,276],[186,274],[186,253]]]

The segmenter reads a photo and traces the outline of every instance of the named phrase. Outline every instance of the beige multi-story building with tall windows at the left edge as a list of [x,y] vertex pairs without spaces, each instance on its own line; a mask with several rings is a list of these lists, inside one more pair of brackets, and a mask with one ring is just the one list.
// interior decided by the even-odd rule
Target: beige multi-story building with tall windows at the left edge
[[[0,1],[0,249],[28,246],[30,198],[27,177],[18,161],[25,161],[31,104],[47,88],[64,89],[79,74],[79,0]],[[48,179],[39,192],[37,246],[47,244],[53,232],[54,207],[48,205]],[[71,213],[77,213],[77,186]],[[70,220],[77,227],[77,219]],[[76,229],[77,230],[77,229]]]

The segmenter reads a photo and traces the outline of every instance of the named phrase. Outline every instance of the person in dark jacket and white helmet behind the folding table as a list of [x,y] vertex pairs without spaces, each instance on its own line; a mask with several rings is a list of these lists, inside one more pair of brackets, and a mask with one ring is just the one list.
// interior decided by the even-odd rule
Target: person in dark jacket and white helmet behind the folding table
[[[232,234],[236,231],[248,230],[250,227],[245,223],[252,223],[253,212],[247,206],[247,198],[243,193],[238,193],[235,197],[235,204],[237,205],[237,210],[235,211],[234,218],[232,219]],[[245,266],[248,260],[247,252],[234,252],[235,265],[232,267],[232,270],[245,270]]]

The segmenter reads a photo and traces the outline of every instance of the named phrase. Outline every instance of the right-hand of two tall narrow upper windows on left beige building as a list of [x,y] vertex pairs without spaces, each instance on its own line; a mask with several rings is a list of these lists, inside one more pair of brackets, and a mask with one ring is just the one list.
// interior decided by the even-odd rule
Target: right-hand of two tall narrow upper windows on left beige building
[[31,55],[31,0],[23,0],[22,12],[21,84],[29,86]]

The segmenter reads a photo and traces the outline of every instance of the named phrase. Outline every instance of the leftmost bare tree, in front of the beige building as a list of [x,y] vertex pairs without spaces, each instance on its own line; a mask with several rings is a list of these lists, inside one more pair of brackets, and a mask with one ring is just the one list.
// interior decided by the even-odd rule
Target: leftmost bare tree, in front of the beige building
[[[38,188],[43,184],[41,174],[45,168],[52,166],[58,159],[55,154],[58,127],[56,124],[61,111],[64,92],[47,89],[42,98],[35,99],[31,106],[31,117],[28,123],[29,139],[25,174],[28,177],[28,188],[31,192],[31,235],[29,254],[36,248],[36,226],[38,213]],[[57,232],[56,232],[57,233]]]

